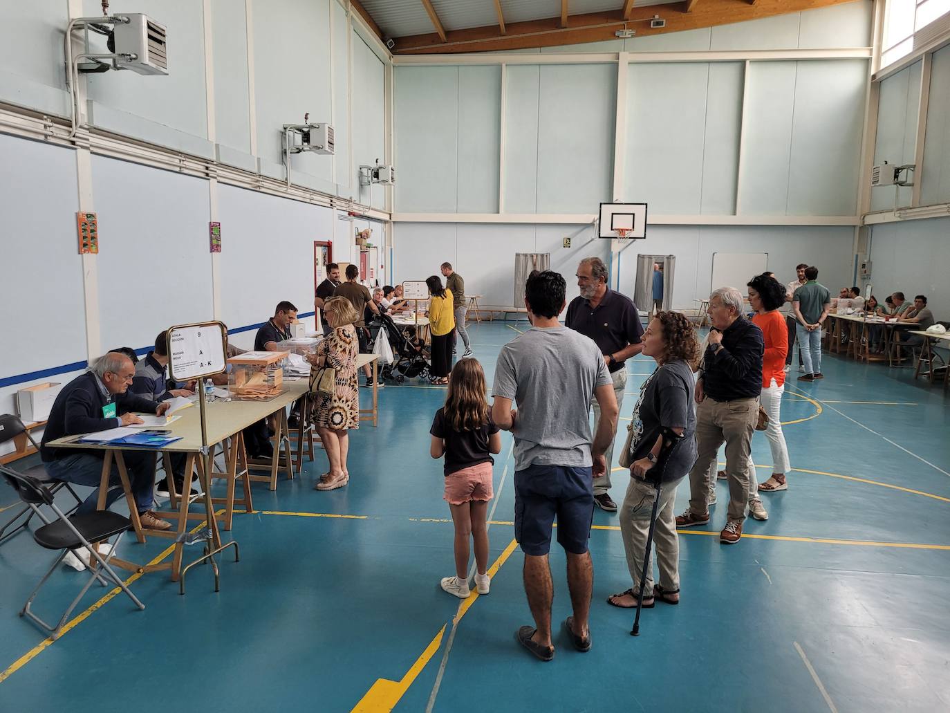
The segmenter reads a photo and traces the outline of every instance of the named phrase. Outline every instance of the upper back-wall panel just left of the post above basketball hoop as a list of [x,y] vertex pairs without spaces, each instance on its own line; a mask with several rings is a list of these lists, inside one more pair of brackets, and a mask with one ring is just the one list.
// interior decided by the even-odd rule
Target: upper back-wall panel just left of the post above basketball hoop
[[611,199],[616,103],[616,65],[541,67],[540,213],[594,213]]

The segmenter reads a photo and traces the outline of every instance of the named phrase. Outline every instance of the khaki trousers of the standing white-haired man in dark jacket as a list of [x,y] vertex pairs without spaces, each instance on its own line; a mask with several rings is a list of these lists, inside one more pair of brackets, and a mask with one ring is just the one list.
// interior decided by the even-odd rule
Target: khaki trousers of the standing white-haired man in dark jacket
[[749,454],[758,420],[756,398],[713,401],[707,396],[696,404],[696,464],[690,471],[690,511],[709,512],[707,473],[715,465],[716,452],[726,442],[726,478],[729,482],[729,519],[746,519],[749,502]]

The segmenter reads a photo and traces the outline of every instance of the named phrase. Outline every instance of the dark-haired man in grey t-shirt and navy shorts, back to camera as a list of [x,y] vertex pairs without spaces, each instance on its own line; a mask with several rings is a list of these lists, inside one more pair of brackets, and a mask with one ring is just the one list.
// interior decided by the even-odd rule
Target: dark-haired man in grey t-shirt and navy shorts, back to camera
[[[587,616],[594,567],[587,541],[593,476],[608,467],[604,453],[618,417],[613,381],[597,344],[558,320],[566,306],[565,287],[561,275],[550,270],[528,277],[524,306],[532,328],[503,347],[492,389],[492,420],[515,436],[515,537],[524,552],[524,589],[535,620],[535,626],[522,626],[517,638],[542,661],[554,657],[554,585],[547,555],[555,516],[574,603],[574,616],[564,626],[575,647],[591,646]],[[591,398],[601,414],[593,443]]]

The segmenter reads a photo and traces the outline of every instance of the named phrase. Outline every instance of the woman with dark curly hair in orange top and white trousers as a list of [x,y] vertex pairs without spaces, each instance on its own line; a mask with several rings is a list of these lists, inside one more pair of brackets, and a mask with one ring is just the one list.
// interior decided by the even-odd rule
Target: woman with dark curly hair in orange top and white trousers
[[[785,317],[778,308],[785,303],[785,286],[777,279],[769,277],[769,273],[757,275],[749,282],[749,303],[755,316],[752,321],[762,330],[765,337],[766,351],[762,358],[762,408],[769,414],[769,428],[766,437],[772,453],[772,474],[769,479],[758,486],[759,491],[773,492],[788,490],[785,474],[789,470],[788,446],[785,435],[782,434],[782,394],[785,392],[785,357],[788,354],[788,329]],[[750,471],[754,472],[754,468]],[[757,499],[757,496],[756,498]],[[751,505],[751,504],[750,504]],[[759,505],[761,508],[761,504]],[[762,509],[765,512],[765,509]],[[764,520],[769,517],[758,517],[752,506],[751,513],[756,519]]]

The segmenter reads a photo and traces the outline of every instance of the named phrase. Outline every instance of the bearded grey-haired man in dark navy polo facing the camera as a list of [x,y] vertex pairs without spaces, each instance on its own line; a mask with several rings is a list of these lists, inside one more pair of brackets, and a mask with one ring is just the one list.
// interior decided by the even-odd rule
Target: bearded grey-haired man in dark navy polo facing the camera
[[[643,325],[637,305],[626,295],[621,295],[607,286],[607,266],[599,258],[584,258],[578,265],[580,297],[567,306],[564,325],[585,337],[592,338],[603,355],[604,363],[614,382],[618,409],[623,404],[623,392],[627,387],[625,361],[636,357],[642,350]],[[600,408],[594,407],[594,429],[600,422]],[[617,503],[610,497],[610,470],[614,464],[614,444],[607,449],[607,472],[594,478],[594,502],[602,511],[616,512]]]

